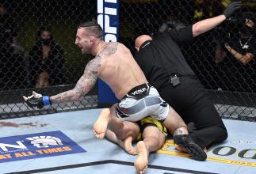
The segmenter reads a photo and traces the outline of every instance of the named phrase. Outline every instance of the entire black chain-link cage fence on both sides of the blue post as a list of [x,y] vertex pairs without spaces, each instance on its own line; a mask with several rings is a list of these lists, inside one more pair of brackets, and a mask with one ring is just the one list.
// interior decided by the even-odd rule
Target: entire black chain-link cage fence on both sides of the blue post
[[[112,2],[112,1],[109,1]],[[135,53],[140,34],[158,35],[223,13],[230,0],[120,0],[120,42]],[[255,121],[256,41],[254,0],[222,25],[182,47],[197,77],[224,118]],[[85,100],[31,111],[22,95],[35,89],[50,95],[71,89],[92,59],[75,46],[82,21],[97,17],[96,0],[1,1],[2,118],[97,107],[97,90]],[[238,53],[232,53],[232,48]],[[244,55],[244,56],[243,56]]]

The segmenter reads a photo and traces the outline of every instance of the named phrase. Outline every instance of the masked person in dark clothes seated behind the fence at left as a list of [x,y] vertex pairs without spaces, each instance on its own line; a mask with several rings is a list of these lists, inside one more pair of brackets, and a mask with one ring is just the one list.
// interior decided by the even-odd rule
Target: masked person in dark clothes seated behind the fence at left
[[63,50],[54,42],[49,28],[39,28],[29,59],[32,86],[41,88],[63,84]]

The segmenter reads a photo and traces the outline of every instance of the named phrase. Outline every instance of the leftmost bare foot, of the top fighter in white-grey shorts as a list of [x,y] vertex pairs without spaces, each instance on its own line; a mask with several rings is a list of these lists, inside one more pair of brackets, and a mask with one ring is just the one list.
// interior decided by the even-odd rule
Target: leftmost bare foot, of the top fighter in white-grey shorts
[[94,135],[96,138],[103,139],[105,137],[105,132],[108,128],[108,123],[110,119],[109,109],[103,109],[101,115],[97,118],[96,123],[94,123]]

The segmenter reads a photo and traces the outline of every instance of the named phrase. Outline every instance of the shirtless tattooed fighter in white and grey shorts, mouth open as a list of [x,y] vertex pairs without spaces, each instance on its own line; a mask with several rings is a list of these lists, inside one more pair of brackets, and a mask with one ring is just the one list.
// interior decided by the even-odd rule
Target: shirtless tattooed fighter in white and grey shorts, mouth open
[[[42,96],[36,92],[32,96],[23,96],[31,108],[42,108],[48,104],[59,104],[82,100],[90,89],[101,78],[113,90],[120,100],[110,108],[110,115],[100,116],[94,124],[94,132],[98,138],[104,138],[107,128],[117,138],[124,140],[130,134],[125,131],[124,120],[136,122],[151,115],[162,121],[170,131],[178,127],[186,127],[181,117],[170,108],[159,96],[157,90],[145,78],[131,52],[122,43],[106,43],[102,36],[102,28],[94,21],[79,25],[75,44],[82,54],[91,54],[92,59],[78,80],[74,89],[55,96]],[[182,140],[185,141],[185,138]],[[197,160],[205,160],[206,154]]]

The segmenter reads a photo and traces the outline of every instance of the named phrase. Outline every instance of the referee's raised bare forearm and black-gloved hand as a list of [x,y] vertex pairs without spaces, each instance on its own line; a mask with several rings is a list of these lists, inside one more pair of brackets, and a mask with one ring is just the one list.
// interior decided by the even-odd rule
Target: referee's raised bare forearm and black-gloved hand
[[241,2],[231,2],[227,9],[224,10],[224,13],[208,19],[204,19],[202,21],[198,21],[196,24],[193,25],[193,37],[201,35],[204,32],[208,32],[212,28],[215,28],[217,25],[220,25],[221,22],[225,21],[228,17],[231,16],[232,13],[235,12],[236,9],[241,7]]

